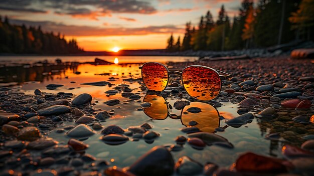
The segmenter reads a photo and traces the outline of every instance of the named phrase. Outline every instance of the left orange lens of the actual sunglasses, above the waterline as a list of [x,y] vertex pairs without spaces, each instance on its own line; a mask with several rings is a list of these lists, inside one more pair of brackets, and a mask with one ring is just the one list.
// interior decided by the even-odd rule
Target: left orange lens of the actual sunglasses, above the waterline
[[147,63],[142,67],[142,79],[149,90],[163,91],[168,83],[168,71],[158,63]]

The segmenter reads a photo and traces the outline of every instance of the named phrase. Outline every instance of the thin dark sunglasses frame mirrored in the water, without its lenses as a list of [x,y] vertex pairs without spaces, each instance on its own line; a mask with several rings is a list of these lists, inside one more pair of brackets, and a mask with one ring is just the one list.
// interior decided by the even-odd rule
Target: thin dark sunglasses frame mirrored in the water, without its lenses
[[[156,118],[150,117],[150,116],[145,112],[145,110],[143,110],[144,114],[146,114],[148,117],[150,117],[150,118],[152,118],[152,119],[155,119],[155,120],[166,120],[168,117],[171,118],[171,119],[175,119],[175,120],[179,120],[179,119],[180,119],[181,124],[187,127],[187,125],[185,125],[185,124],[182,122],[182,113],[183,113],[184,108],[185,108],[186,106],[189,106],[189,105],[185,105],[182,109],[178,109],[178,110],[181,110],[180,116],[174,117],[174,116],[171,115],[170,112],[169,112],[171,108],[169,107],[169,102],[166,100],[165,97],[160,96],[160,95],[157,95],[157,94],[146,94],[146,95],[144,96],[144,98],[143,98],[143,102],[144,102],[145,97],[146,97],[147,95],[156,95],[156,96],[162,97],[162,98],[165,100],[164,103],[167,105],[167,116],[166,116],[166,118],[164,118],[164,119],[156,119]],[[219,117],[220,117],[220,114],[219,114],[219,111],[218,111],[218,109],[217,109],[216,107],[214,107],[210,102],[206,102],[206,101],[193,101],[193,102],[205,103],[205,104],[208,104],[208,105],[212,106],[212,107],[216,110],[216,112],[217,112],[218,119],[219,119],[218,127],[220,127],[220,124],[221,124],[221,123],[220,123],[221,120],[220,120],[220,118],[219,118]],[[191,103],[193,103],[193,102],[191,102]],[[224,127],[221,127],[221,128],[226,129],[228,126],[229,126],[229,125],[225,125]],[[216,132],[217,132],[217,131],[215,131],[215,132],[213,132],[213,133],[216,133]]]

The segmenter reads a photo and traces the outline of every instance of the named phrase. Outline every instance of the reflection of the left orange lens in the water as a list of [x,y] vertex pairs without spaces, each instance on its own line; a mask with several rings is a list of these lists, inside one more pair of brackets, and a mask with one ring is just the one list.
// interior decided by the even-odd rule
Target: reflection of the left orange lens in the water
[[150,118],[164,120],[168,116],[168,107],[164,97],[157,95],[146,95],[143,102],[149,102],[150,107],[143,108],[144,113]]

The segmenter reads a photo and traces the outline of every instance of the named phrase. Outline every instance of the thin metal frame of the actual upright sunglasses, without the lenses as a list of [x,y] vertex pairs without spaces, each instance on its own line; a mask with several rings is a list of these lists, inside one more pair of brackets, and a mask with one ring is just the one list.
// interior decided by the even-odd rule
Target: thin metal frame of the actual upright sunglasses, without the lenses
[[[220,89],[219,89],[219,93],[221,92],[221,88],[222,88],[222,80],[226,80],[226,79],[228,79],[228,78],[230,78],[230,77],[232,76],[230,73],[226,73],[226,72],[223,72],[223,71],[220,71],[220,70],[216,70],[216,69],[213,69],[213,68],[211,68],[211,67],[207,67],[207,66],[203,66],[203,65],[190,65],[190,66],[185,67],[185,68],[170,68],[170,69],[169,69],[169,68],[166,67],[164,64],[161,64],[161,63],[158,63],[158,62],[146,62],[146,63],[144,63],[143,65],[138,66],[138,68],[141,70],[141,77],[142,77],[142,78],[143,78],[143,72],[142,72],[143,66],[144,66],[145,64],[151,64],[151,63],[162,65],[162,66],[165,67],[166,70],[167,70],[167,73],[168,73],[167,84],[166,84],[166,87],[165,87],[163,90],[161,90],[161,91],[164,91],[164,90],[167,88],[168,83],[169,83],[169,79],[170,79],[170,74],[177,74],[177,75],[180,75],[182,86],[183,86],[184,90],[188,93],[188,91],[186,90],[186,88],[185,88],[185,86],[184,86],[184,83],[183,83],[182,73],[184,72],[185,69],[187,69],[187,68],[189,68],[189,67],[202,67],[202,68],[206,68],[206,69],[210,69],[210,70],[214,71],[214,72],[219,76],[219,78],[220,78]],[[182,71],[178,71],[178,70],[182,70]],[[222,74],[225,74],[225,75],[220,75],[219,73],[222,73]],[[144,81],[143,81],[143,83],[144,83]],[[150,89],[146,86],[145,83],[144,83],[144,85],[145,85],[145,87],[146,87],[148,90],[150,90]],[[218,95],[219,95],[219,93],[218,93]],[[188,93],[188,94],[189,94],[189,93]],[[218,95],[217,95],[215,98],[211,99],[211,100],[215,100],[215,99],[218,97]],[[193,97],[193,96],[191,96],[190,94],[189,94],[189,96],[192,97],[192,98],[194,98],[194,99],[199,100],[198,98]],[[211,101],[211,100],[199,100],[199,101]]]

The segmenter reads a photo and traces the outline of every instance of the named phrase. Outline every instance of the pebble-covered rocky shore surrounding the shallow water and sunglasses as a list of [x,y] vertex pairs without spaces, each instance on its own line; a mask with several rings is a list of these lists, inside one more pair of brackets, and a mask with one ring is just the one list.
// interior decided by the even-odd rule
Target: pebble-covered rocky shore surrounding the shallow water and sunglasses
[[[154,140],[166,138],[164,131],[156,128],[154,120],[139,120],[136,126],[127,128],[110,124],[110,119],[120,121],[116,111],[124,103],[138,103],[136,110],[144,111],[152,103],[143,101],[146,95],[156,95],[175,101],[171,108],[182,110],[195,100],[180,85],[180,77],[172,75],[172,81],[163,92],[148,91],[140,77],[113,75],[109,80],[84,83],[99,89],[110,86],[104,102],[95,101],[91,94],[58,92],[45,93],[36,89],[25,94],[16,84],[2,85],[0,90],[0,175],[312,175],[314,174],[314,76],[312,60],[292,60],[285,56],[255,58],[250,60],[196,61],[169,63],[169,67],[184,68],[188,65],[205,65],[232,74],[222,81],[222,90],[211,106],[219,108],[226,103],[237,108],[237,116],[220,114],[219,124],[213,132],[201,130],[201,121],[191,120],[178,128],[182,134],[151,147]],[[138,67],[137,65],[130,67]],[[140,76],[138,73],[136,73]],[[129,73],[135,75],[135,73]],[[111,81],[123,80],[122,84]],[[82,84],[82,85],[84,85]],[[129,85],[138,84],[131,88]],[[58,90],[63,85],[47,84],[47,90]],[[70,91],[70,90],[69,90]],[[96,108],[103,103],[112,110]],[[173,107],[172,107],[173,106]],[[168,106],[167,106],[168,108]],[[187,112],[201,114],[204,109],[191,107]],[[156,109],[158,110],[158,109]],[[182,115],[182,114],[181,114]],[[171,115],[172,116],[172,115]],[[151,118],[151,117],[150,117]],[[172,116],[173,119],[180,119]],[[250,123],[260,128],[261,138],[270,140],[279,153],[250,152],[239,154],[234,164],[221,166],[215,159],[201,162],[187,153],[176,153],[192,147],[202,153],[211,147],[228,151],[239,149],[232,138],[223,137],[228,130],[245,130]],[[66,125],[65,125],[66,124]],[[205,124],[205,126],[208,124]],[[206,126],[207,127],[207,126]],[[204,128],[205,129],[205,128]],[[59,142],[50,136],[59,133],[67,142]],[[91,144],[85,142],[92,136],[105,146],[123,146],[125,143],[144,140],[150,148],[140,157],[133,158],[128,167],[115,164],[86,152]],[[249,136],[254,138],[255,136]],[[255,137],[256,138],[256,137]],[[244,139],[243,139],[244,140]],[[259,140],[259,139],[257,139]],[[213,145],[213,146],[212,146]],[[128,148],[121,151],[131,155]],[[105,155],[105,153],[102,153]],[[176,155],[176,157],[174,157]],[[205,153],[206,155],[206,153]],[[100,155],[99,155],[100,156]],[[226,159],[228,157],[226,156]]]

